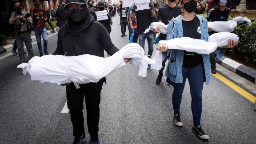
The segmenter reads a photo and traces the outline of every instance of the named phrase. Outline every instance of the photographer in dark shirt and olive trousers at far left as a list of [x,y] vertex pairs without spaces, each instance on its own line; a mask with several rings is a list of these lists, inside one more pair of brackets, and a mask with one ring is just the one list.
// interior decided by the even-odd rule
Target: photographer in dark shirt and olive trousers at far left
[[18,48],[18,53],[20,56],[20,63],[25,63],[25,54],[23,48],[23,42],[28,49],[29,60],[33,57],[33,49],[31,43],[31,35],[29,26],[32,24],[32,18],[28,12],[22,10],[20,2],[16,1],[13,4],[15,12],[12,12],[9,19],[10,24],[15,25],[15,29],[18,31],[18,36],[16,38],[16,44]]

